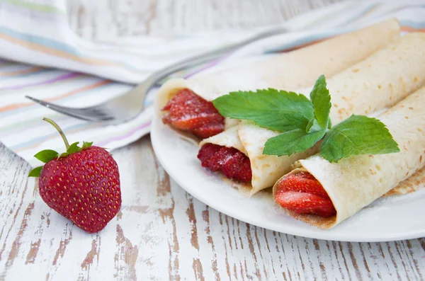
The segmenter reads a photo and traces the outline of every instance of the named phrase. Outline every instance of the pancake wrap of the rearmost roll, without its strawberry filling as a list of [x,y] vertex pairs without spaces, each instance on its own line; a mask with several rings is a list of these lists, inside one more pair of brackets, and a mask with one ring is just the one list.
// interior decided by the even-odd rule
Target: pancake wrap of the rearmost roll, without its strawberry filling
[[[392,19],[367,28],[280,55],[264,57],[222,71],[200,74],[190,79],[171,79],[157,94],[157,114],[176,93],[188,88],[207,101],[230,91],[258,88],[302,88],[314,84],[321,74],[331,76],[346,69],[399,37],[399,24]],[[226,120],[226,127],[237,122]],[[181,132],[181,131],[179,131]],[[181,132],[183,136],[199,139]]]

